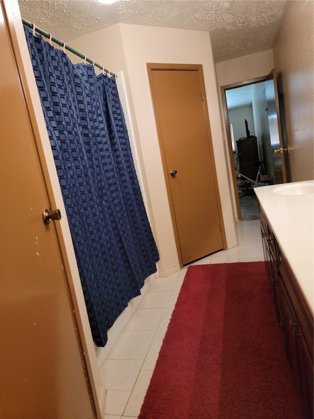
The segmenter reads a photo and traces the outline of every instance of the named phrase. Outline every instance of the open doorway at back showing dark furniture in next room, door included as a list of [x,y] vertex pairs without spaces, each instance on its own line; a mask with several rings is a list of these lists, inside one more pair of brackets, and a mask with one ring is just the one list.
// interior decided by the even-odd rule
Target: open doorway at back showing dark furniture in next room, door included
[[[264,184],[287,181],[284,151],[288,148],[282,143],[275,72],[221,89],[237,219],[258,219],[254,181]],[[239,178],[247,188],[244,196],[243,190],[238,191]]]

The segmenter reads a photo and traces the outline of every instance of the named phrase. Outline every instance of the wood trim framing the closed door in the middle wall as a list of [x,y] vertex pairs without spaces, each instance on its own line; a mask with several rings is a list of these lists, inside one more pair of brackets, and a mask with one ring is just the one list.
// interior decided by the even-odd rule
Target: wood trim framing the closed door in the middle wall
[[[147,72],[148,72],[150,89],[151,89],[151,93],[152,93],[152,102],[153,102],[154,109],[156,110],[157,109],[157,103],[154,99],[154,97],[155,97],[155,95],[154,95],[154,82],[153,82],[153,75],[152,75],[152,72],[154,70],[179,70],[179,71],[182,70],[182,71],[197,71],[198,72],[199,80],[200,80],[200,88],[201,88],[202,95],[203,95],[204,116],[205,116],[207,137],[208,137],[208,142],[209,142],[209,152],[210,152],[210,158],[211,158],[211,164],[212,164],[213,183],[214,183],[215,195],[216,195],[217,206],[218,206],[218,214],[219,214],[219,220],[220,220],[220,229],[221,229],[221,235],[222,235],[222,241],[223,241],[223,248],[225,250],[225,249],[227,249],[227,240],[226,240],[225,227],[224,227],[224,223],[223,223],[222,207],[221,207],[220,194],[219,194],[219,189],[218,189],[218,179],[217,179],[216,165],[215,165],[212,139],[211,139],[211,131],[210,131],[210,124],[209,124],[209,113],[208,113],[208,104],[207,104],[206,91],[205,91],[203,66],[202,66],[202,64],[147,63]],[[167,173],[165,151],[164,151],[163,142],[162,142],[161,127],[160,127],[159,120],[156,118],[156,116],[155,116],[155,121],[156,121],[156,127],[157,127],[157,136],[158,136],[159,148],[160,148],[160,152],[161,152],[163,173],[164,173],[164,178],[165,178],[165,182],[166,182],[167,197],[168,197],[168,202],[169,202],[171,220],[172,220],[174,235],[175,235],[175,242],[176,242],[180,267],[183,268],[183,259],[182,259],[182,254],[181,254],[181,250],[180,250],[180,242],[179,242],[179,235],[178,235],[178,229],[177,229],[177,224],[176,224],[175,212],[174,212],[173,205],[171,205],[172,197],[171,197],[169,177],[168,177],[168,173]]]

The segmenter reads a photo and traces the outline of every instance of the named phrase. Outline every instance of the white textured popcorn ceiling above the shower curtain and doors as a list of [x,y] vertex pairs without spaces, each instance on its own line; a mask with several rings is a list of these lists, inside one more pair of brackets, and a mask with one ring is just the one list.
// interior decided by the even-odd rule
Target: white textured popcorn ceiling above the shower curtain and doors
[[24,19],[71,45],[117,23],[209,31],[215,62],[273,47],[284,0],[20,0]]

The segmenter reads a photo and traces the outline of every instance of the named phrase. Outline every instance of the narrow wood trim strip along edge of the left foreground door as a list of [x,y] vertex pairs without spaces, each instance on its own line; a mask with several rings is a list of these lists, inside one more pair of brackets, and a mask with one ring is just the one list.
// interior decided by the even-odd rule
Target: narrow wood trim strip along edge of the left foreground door
[[[40,162],[40,168],[43,173],[43,179],[45,182],[45,187],[46,187],[46,192],[47,192],[47,199],[49,202],[49,206],[52,208],[56,208],[52,184],[50,181],[50,174],[49,174],[49,170],[46,164],[45,152],[44,152],[43,145],[41,142],[40,131],[37,125],[36,112],[34,110],[30,88],[28,85],[26,72],[24,68],[23,58],[21,56],[20,46],[19,46],[19,42],[18,42],[18,38],[17,38],[15,26],[14,26],[13,11],[11,10],[11,6],[9,7],[7,6],[8,5],[5,4],[4,1],[3,2],[1,1],[5,27],[7,29],[8,36],[11,42],[12,52],[14,55],[14,61],[16,65],[16,71],[20,80],[21,91],[23,92],[23,96],[25,100],[26,112],[28,113],[28,119],[29,119],[31,131],[33,132],[34,144],[36,146],[36,150],[37,150],[37,154],[38,154],[38,158]],[[71,275],[71,268],[70,268],[69,260],[67,257],[66,245],[64,242],[61,225],[59,223],[53,223],[53,228],[55,229],[55,235],[56,235],[56,239],[57,239],[59,249],[60,249],[60,257],[61,257],[63,268],[64,268],[64,276],[66,279],[67,288],[69,290],[68,294],[69,294],[70,303],[71,303],[71,306],[73,307],[72,317],[73,317],[73,322],[76,327],[78,348],[80,351],[82,365],[85,371],[86,384],[89,391],[92,410],[94,412],[95,418],[101,418],[102,414],[100,411],[99,402],[97,400],[97,391],[96,391],[96,387],[95,387],[95,383],[93,379],[92,366],[88,357],[88,347],[87,347],[86,340],[84,337],[82,320],[79,314],[79,305],[78,305],[78,301],[77,301],[76,293],[75,293],[75,285],[74,285],[73,278]]]

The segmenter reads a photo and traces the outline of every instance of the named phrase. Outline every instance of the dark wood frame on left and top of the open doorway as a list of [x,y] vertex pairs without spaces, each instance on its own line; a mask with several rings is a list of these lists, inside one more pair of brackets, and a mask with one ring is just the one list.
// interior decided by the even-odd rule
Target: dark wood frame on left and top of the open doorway
[[221,98],[222,98],[222,107],[223,107],[223,113],[224,113],[223,116],[224,116],[224,121],[225,121],[228,151],[229,151],[229,164],[230,164],[230,167],[231,167],[232,183],[233,183],[234,194],[235,194],[236,215],[237,215],[238,221],[242,221],[242,214],[241,214],[240,198],[239,198],[238,193],[237,193],[235,165],[233,164],[233,161],[234,161],[233,154],[234,153],[233,153],[233,149],[232,149],[232,140],[231,140],[230,127],[229,127],[230,122],[229,122],[229,116],[228,116],[226,90],[231,90],[231,89],[235,89],[237,87],[247,86],[249,84],[262,83],[262,82],[265,82],[268,79],[269,79],[269,75],[262,76],[262,77],[257,77],[255,79],[245,80],[243,82],[226,84],[226,85],[220,87]]

